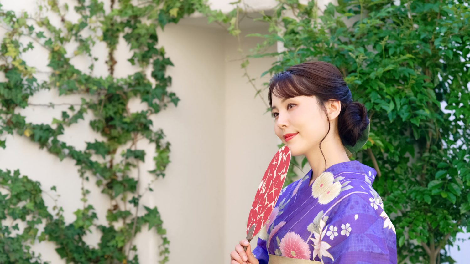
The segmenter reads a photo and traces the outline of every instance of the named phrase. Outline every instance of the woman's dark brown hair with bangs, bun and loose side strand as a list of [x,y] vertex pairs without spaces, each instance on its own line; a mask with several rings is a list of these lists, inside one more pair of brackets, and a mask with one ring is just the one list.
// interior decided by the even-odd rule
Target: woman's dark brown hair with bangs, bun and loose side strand
[[[330,99],[339,100],[341,111],[338,116],[337,128],[344,145],[354,146],[369,124],[366,107],[359,102],[352,101],[351,91],[341,72],[336,66],[326,61],[308,61],[274,74],[269,81],[268,101],[270,107],[273,103],[273,94],[279,98],[315,96],[325,114],[325,102]],[[328,114],[327,118],[329,124]],[[329,130],[330,125],[328,125],[327,135]],[[321,142],[327,135],[320,141],[320,151]],[[321,155],[323,155],[323,151],[321,151]],[[324,155],[323,159],[325,159]]]

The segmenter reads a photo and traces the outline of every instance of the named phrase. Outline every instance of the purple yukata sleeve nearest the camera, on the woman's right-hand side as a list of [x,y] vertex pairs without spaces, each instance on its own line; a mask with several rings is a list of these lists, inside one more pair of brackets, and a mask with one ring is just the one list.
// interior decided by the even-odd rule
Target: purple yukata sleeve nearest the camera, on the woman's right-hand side
[[381,202],[364,193],[340,198],[321,236],[326,243],[319,253],[327,253],[320,255],[325,264],[397,263],[395,227]]

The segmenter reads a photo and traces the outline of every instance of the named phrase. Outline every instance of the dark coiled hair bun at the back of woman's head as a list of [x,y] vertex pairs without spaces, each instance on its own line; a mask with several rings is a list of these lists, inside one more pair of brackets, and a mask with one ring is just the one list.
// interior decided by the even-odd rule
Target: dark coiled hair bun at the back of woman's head
[[338,118],[338,133],[343,143],[354,146],[368,124],[366,106],[359,102],[347,105]]

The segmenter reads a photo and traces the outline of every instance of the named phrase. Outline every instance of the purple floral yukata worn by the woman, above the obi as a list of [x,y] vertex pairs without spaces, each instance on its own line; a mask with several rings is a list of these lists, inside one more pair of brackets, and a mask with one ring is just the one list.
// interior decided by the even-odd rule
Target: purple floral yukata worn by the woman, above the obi
[[357,160],[337,163],[309,185],[282,189],[253,249],[260,264],[269,254],[324,264],[396,264],[396,232],[372,188],[376,170]]

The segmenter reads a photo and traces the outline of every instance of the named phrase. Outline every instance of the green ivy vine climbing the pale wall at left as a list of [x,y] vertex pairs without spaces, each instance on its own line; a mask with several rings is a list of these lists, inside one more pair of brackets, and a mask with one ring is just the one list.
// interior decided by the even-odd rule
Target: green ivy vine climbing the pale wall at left
[[[170,143],[150,117],[169,104],[177,106],[180,100],[169,90],[172,78],[165,72],[173,64],[165,56],[164,48],[157,48],[157,27],[164,29],[168,23],[178,23],[182,17],[194,13],[196,7],[205,7],[205,3],[199,0],[110,0],[109,4],[110,12],[106,12],[104,3],[99,0],[77,0],[73,7],[58,0],[42,0],[35,14],[17,14],[4,10],[0,4],[0,27],[7,31],[0,46],[0,71],[6,79],[0,83],[0,146],[8,146],[6,134],[17,134],[29,138],[61,161],[73,159],[82,182],[94,181],[111,200],[107,225],[98,224],[95,208],[87,198],[90,191],[82,184],[83,207],[74,212],[76,219],[67,223],[62,207],[47,208],[43,200],[50,196],[56,201],[55,187],[42,190],[39,182],[31,181],[18,170],[0,170],[0,263],[43,263],[40,254],[32,252],[29,246],[39,240],[55,243],[56,252],[67,263],[136,264],[139,258],[133,238],[146,225],[162,239],[160,263],[168,262],[170,241],[160,213],[157,207],[141,204],[142,196],[152,191],[152,183],[165,176],[170,162]],[[77,21],[67,19],[72,9],[79,15]],[[51,22],[51,14],[60,23]],[[120,36],[132,53],[128,61],[140,68],[125,78],[114,77]],[[98,58],[92,48],[98,42],[104,42],[108,50],[109,75],[106,77],[94,74]],[[66,50],[69,43],[78,44],[73,55]],[[46,81],[39,81],[37,69],[24,60],[23,54],[31,50],[49,53],[47,66],[51,72]],[[76,56],[89,59],[87,72],[71,64]],[[145,71],[149,67],[152,69],[150,76]],[[82,96],[81,103],[70,104],[62,117],[51,123],[26,121],[18,110],[31,106],[29,99],[36,92],[51,89],[57,89],[61,96]],[[131,112],[128,103],[135,97],[148,107]],[[64,104],[52,102],[36,106],[58,105]],[[78,150],[61,141],[60,136],[65,128],[84,121],[86,113],[93,116],[90,128],[104,140],[87,142],[85,150]],[[150,157],[155,169],[149,171],[154,180],[145,188],[139,188],[143,174],[139,163],[149,154],[137,148],[137,142],[142,139],[155,145],[155,153]],[[131,171],[137,171],[137,177]],[[143,191],[139,192],[140,189]],[[139,208],[143,209],[139,211]],[[92,232],[92,226],[101,232],[97,247],[84,241]]]

